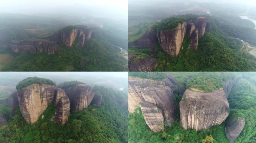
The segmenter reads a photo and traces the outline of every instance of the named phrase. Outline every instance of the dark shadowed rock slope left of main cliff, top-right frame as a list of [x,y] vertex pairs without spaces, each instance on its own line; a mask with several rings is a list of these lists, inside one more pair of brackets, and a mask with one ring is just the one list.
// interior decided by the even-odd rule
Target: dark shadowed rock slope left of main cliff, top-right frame
[[147,32],[141,36],[140,39],[133,42],[129,42],[128,46],[141,49],[153,49],[157,42],[158,40],[156,37],[156,31],[152,28],[149,28]]

